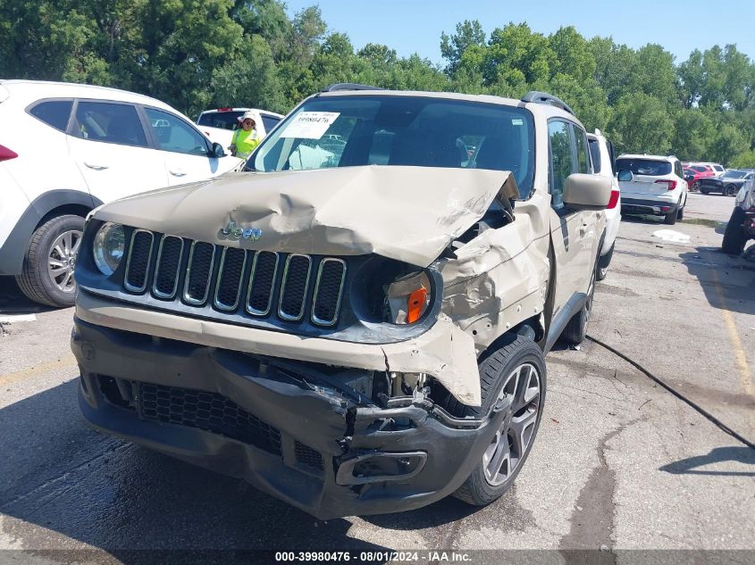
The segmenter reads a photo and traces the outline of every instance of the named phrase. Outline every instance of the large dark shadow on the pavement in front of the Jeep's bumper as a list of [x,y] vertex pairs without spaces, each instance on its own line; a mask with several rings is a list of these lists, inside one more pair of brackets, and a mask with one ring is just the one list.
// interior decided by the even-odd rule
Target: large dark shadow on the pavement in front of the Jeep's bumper
[[[77,386],[73,379],[0,410],[0,513],[4,535],[21,546],[388,549],[349,537],[347,519],[319,521],[242,481],[97,434],[80,415]],[[454,519],[450,508],[441,516]]]

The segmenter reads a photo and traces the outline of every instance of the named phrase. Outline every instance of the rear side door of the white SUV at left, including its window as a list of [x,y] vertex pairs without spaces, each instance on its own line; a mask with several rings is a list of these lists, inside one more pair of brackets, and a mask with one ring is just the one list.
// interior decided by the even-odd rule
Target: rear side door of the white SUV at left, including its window
[[102,202],[167,184],[162,155],[149,147],[133,104],[78,100],[67,141],[89,193]]

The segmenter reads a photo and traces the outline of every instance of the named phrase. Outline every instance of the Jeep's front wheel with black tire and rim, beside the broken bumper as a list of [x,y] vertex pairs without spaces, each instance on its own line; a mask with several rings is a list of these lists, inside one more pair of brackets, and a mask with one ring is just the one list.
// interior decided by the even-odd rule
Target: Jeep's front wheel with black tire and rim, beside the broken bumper
[[466,479],[453,494],[474,506],[498,500],[514,484],[540,427],[546,391],[545,358],[532,339],[516,336],[480,363],[482,406],[464,406],[463,416],[480,418],[504,396],[511,418],[504,421]]

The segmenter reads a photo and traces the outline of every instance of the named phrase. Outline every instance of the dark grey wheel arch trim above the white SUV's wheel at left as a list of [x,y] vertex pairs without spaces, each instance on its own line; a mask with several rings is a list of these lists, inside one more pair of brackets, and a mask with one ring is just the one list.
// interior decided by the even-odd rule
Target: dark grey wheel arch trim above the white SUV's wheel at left
[[71,188],[48,190],[39,195],[21,214],[5,243],[0,247],[0,275],[21,274],[23,258],[34,231],[55,208],[74,205],[94,210],[101,204],[103,204],[102,201],[88,192]]

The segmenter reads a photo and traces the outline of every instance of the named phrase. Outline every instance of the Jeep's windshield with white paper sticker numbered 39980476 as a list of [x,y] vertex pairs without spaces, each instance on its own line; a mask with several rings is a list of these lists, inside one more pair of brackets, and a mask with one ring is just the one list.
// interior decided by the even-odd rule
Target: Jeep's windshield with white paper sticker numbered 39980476
[[411,165],[510,170],[533,185],[532,114],[523,108],[421,96],[324,96],[267,137],[254,170]]

